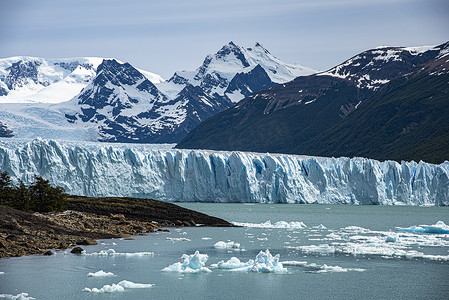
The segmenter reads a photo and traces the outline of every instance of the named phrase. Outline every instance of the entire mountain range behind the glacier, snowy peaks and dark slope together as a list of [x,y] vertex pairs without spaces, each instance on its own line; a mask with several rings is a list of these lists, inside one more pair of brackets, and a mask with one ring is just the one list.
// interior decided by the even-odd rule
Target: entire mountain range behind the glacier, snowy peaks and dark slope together
[[324,72],[230,42],[164,80],[113,58],[0,59],[0,137],[378,160],[449,158],[449,42]]

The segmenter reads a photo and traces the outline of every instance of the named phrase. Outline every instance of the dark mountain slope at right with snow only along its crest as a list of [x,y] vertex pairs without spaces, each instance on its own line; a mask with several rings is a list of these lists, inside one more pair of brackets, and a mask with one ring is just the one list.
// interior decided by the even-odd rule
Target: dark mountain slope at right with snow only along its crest
[[379,47],[253,93],[178,148],[449,159],[449,42]]

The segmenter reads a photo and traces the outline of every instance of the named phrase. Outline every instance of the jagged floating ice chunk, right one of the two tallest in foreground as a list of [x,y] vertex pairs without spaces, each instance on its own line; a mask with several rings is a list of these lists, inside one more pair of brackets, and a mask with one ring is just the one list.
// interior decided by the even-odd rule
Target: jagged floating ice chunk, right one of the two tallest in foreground
[[227,269],[238,272],[255,272],[255,273],[286,273],[287,268],[284,268],[279,262],[279,254],[272,256],[270,251],[260,251],[256,259],[250,259],[247,262],[241,262],[237,257],[232,257],[228,261],[220,261],[218,264],[212,265],[218,269]]

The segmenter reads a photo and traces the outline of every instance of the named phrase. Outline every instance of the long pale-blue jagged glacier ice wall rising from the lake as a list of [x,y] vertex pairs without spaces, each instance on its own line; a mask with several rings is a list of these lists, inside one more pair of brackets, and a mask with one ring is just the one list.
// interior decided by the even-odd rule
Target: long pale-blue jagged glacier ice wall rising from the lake
[[449,205],[449,162],[0,142],[0,169],[70,194],[163,201]]

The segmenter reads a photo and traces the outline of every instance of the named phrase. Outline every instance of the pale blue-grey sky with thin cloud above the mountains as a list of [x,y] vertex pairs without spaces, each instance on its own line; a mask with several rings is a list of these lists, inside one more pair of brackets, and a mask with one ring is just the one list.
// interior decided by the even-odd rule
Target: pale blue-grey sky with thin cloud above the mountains
[[447,0],[0,0],[0,58],[114,57],[168,79],[233,41],[329,69],[449,41]]

